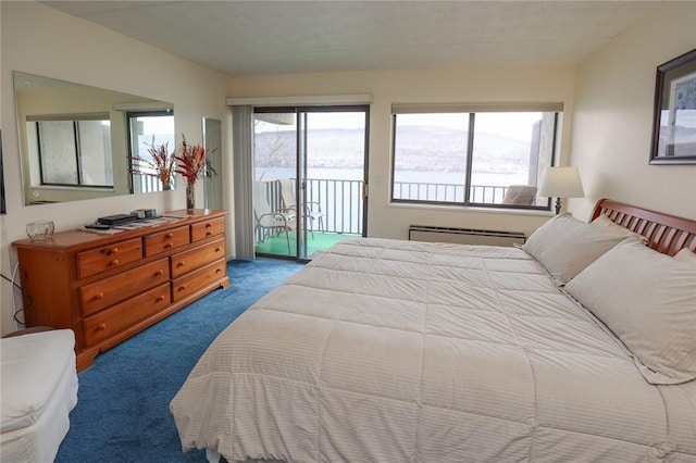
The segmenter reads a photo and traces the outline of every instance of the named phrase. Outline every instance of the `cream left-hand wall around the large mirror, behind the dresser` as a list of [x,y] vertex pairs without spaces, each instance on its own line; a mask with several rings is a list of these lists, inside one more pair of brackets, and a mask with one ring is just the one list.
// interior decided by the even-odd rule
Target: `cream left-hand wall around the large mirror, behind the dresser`
[[[0,216],[2,274],[11,275],[16,262],[11,242],[26,237],[25,224],[29,222],[50,220],[55,222],[57,232],[61,232],[77,228],[101,215],[134,209],[170,211],[185,208],[184,188],[172,192],[24,207],[12,72],[24,71],[173,102],[177,142],[184,133],[186,139],[195,143],[202,142],[203,116],[220,118],[223,127],[229,126],[229,111],[225,105],[227,78],[37,2],[0,2],[0,121],[8,205],[8,214]],[[228,130],[223,130],[223,155],[231,152],[227,134]],[[231,163],[223,162],[223,171],[231,168]],[[183,182],[178,184],[183,185]],[[197,202],[202,203],[200,182],[197,185]],[[224,207],[229,209],[231,204]],[[233,229],[231,223],[227,229]],[[234,250],[232,241],[227,249],[231,252]],[[12,299],[17,291],[11,290],[10,284],[4,280],[0,283],[0,329],[5,334],[15,329]]]

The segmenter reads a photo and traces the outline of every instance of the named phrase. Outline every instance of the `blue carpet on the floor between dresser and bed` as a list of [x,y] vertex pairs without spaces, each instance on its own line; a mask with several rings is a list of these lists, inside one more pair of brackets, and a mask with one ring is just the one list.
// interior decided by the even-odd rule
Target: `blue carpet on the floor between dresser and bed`
[[215,290],[125,342],[78,374],[77,405],[57,462],[206,462],[182,452],[169,405],[213,339],[302,264],[257,259],[227,264]]

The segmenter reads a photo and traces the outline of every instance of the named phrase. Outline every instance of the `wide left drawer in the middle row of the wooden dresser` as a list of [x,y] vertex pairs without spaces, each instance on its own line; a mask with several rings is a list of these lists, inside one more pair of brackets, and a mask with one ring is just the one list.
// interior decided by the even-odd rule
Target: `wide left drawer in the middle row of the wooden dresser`
[[166,283],[169,279],[169,260],[163,258],[141,267],[83,286],[79,288],[83,315],[90,315],[153,286]]

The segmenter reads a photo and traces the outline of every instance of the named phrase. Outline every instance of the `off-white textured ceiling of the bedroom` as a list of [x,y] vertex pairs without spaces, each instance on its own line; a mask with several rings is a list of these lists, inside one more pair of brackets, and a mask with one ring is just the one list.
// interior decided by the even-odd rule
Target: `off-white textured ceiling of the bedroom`
[[42,1],[231,76],[571,66],[661,1]]

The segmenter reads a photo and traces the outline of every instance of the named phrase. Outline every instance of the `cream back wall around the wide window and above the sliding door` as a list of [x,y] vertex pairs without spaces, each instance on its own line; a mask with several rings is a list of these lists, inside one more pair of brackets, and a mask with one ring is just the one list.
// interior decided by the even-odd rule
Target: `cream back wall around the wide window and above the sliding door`
[[529,235],[548,220],[549,214],[390,205],[391,103],[560,101],[566,104],[561,150],[566,157],[570,147],[573,91],[574,68],[449,68],[232,78],[228,96],[372,95],[368,234],[406,239],[410,224],[515,230]]

